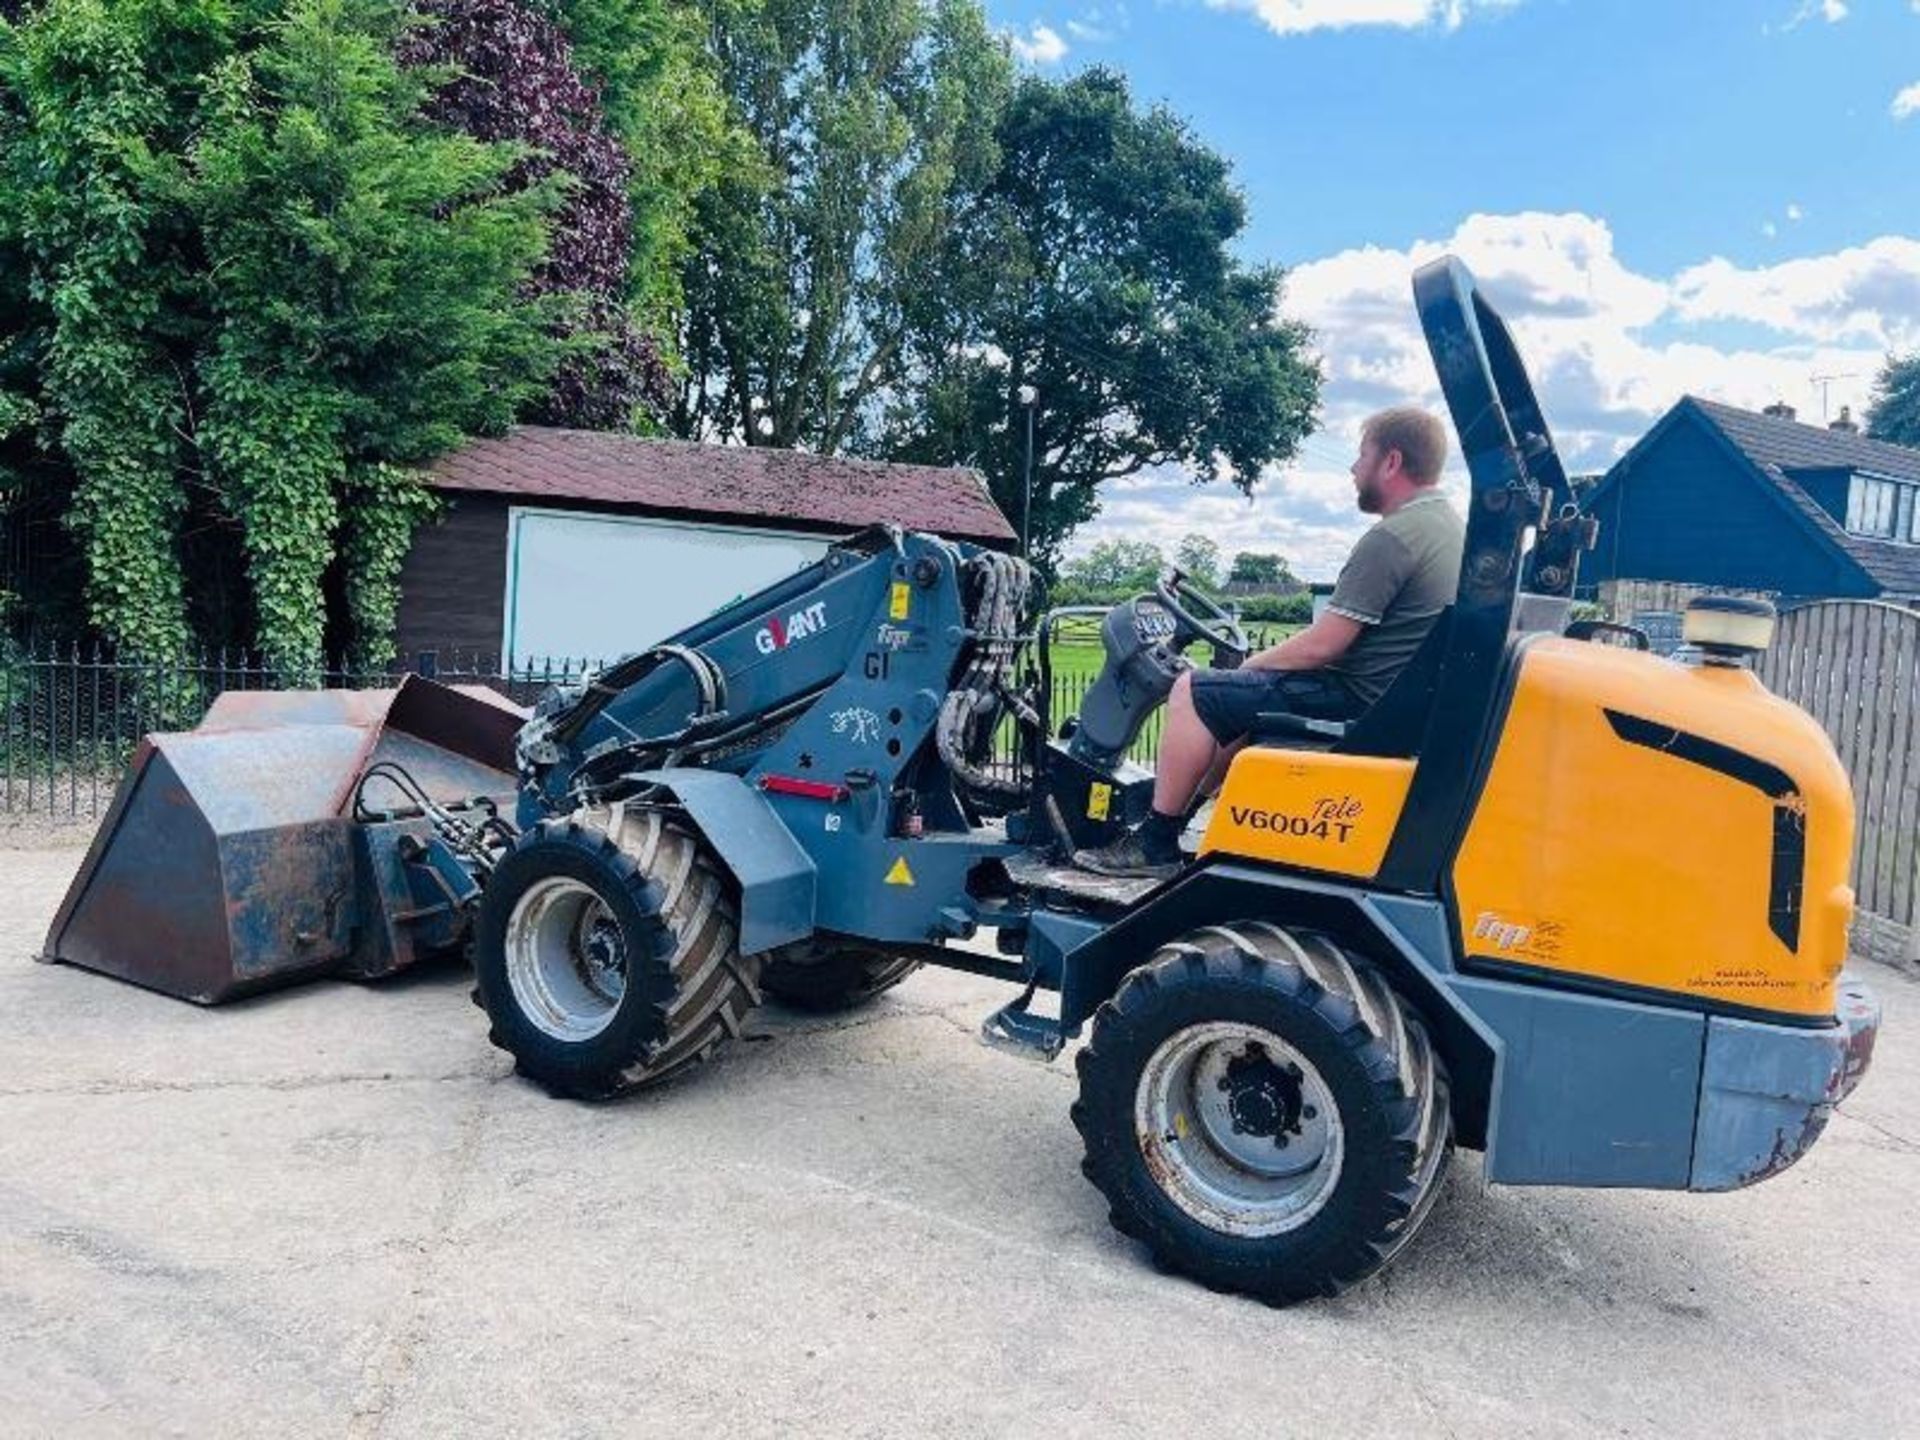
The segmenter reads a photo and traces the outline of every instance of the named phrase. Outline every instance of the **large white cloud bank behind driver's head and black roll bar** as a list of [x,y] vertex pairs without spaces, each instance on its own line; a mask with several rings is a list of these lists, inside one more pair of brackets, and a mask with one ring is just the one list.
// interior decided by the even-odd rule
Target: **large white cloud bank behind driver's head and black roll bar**
[[1171,553],[1204,530],[1229,555],[1279,549],[1331,578],[1365,524],[1346,476],[1361,420],[1402,401],[1442,405],[1409,290],[1442,253],[1459,255],[1507,319],[1574,472],[1607,468],[1686,394],[1747,409],[1786,399],[1818,420],[1812,376],[1845,376],[1828,399],[1860,413],[1887,349],[1920,348],[1914,238],[1776,265],[1715,257],[1661,276],[1628,267],[1592,215],[1473,215],[1444,240],[1346,250],[1288,275],[1283,311],[1313,324],[1327,372],[1321,430],[1300,461],[1263,476],[1254,499],[1140,476],[1108,492],[1075,549],[1129,536]]

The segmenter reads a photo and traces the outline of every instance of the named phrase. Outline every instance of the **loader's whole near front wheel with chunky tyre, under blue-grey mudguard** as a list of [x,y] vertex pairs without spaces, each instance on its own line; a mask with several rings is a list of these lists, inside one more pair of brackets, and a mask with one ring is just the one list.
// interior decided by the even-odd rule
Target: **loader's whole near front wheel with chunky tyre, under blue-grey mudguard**
[[528,831],[486,887],[474,973],[490,1039],[555,1094],[657,1085],[760,1002],[732,877],[657,810],[576,810]]

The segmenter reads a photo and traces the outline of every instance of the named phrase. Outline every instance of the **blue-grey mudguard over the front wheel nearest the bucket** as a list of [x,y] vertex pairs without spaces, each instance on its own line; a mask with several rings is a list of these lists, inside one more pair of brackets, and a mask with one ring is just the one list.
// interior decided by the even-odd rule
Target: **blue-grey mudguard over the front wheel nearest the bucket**
[[726,770],[647,770],[687,812],[739,885],[739,950],[758,954],[814,933],[820,872],[753,785]]

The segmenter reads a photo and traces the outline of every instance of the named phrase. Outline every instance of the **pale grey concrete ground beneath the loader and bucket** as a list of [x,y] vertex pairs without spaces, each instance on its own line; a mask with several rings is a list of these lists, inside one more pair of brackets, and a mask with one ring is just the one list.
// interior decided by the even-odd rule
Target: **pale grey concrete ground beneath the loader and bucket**
[[1071,1066],[922,972],[614,1106],[455,970],[194,1010],[35,966],[79,852],[0,851],[0,1434],[1912,1434],[1920,987],[1732,1196],[1488,1188],[1271,1311],[1156,1275]]

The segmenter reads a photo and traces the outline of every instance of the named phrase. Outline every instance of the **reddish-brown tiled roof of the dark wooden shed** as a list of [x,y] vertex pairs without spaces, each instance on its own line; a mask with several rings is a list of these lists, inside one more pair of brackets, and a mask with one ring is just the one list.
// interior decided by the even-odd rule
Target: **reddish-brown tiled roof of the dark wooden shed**
[[428,467],[436,490],[478,490],[553,505],[860,530],[902,524],[956,540],[1010,541],[1014,528],[977,470],[703,445],[522,424]]

